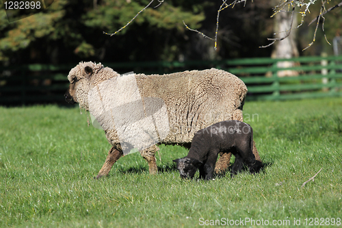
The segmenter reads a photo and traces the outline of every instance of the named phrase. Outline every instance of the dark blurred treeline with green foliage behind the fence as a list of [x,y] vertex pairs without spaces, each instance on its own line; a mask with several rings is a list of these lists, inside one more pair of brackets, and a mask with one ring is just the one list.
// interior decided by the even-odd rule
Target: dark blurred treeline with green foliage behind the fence
[[[3,5],[0,7],[0,64],[51,63],[80,61],[183,61],[228,58],[269,57],[272,49],[260,49],[273,37],[272,1],[248,1],[220,13],[218,50],[214,42],[189,31],[198,29],[215,36],[216,16],[222,1],[155,1],[135,21],[114,36],[149,3],[149,0],[55,0],[38,14],[13,23]],[[319,6],[315,5],[316,13]],[[318,9],[318,11],[317,11]],[[315,10],[315,9],[313,9]],[[21,16],[21,12],[18,15]],[[317,16],[315,11],[306,21]],[[326,15],[326,33],[332,39],[341,33],[341,10]],[[315,25],[295,29],[298,49],[313,39]],[[313,47],[300,55],[331,53],[332,47],[317,31]]]

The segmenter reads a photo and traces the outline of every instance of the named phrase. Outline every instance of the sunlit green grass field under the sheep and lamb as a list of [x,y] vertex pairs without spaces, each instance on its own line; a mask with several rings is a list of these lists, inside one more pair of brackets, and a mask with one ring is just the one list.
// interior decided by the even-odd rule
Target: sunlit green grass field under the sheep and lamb
[[86,112],[0,107],[0,227],[341,227],[341,113],[342,99],[247,102],[257,175],[183,180],[187,150],[161,145],[157,175],[134,153],[94,180],[110,145]]

